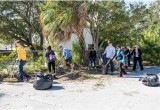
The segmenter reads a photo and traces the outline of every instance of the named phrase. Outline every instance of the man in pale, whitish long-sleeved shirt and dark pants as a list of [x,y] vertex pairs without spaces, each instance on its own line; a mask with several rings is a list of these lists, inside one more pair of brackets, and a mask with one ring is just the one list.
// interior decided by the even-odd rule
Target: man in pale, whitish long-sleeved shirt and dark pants
[[[116,54],[116,49],[114,46],[112,46],[112,42],[108,42],[108,46],[106,47],[105,51],[103,54],[106,54],[106,59],[107,59],[107,63],[110,64],[111,66],[111,72],[113,72],[113,58]],[[108,67],[108,64],[106,65],[106,67]],[[106,68],[107,69],[107,68]],[[106,70],[106,74],[107,74],[107,70]]]

